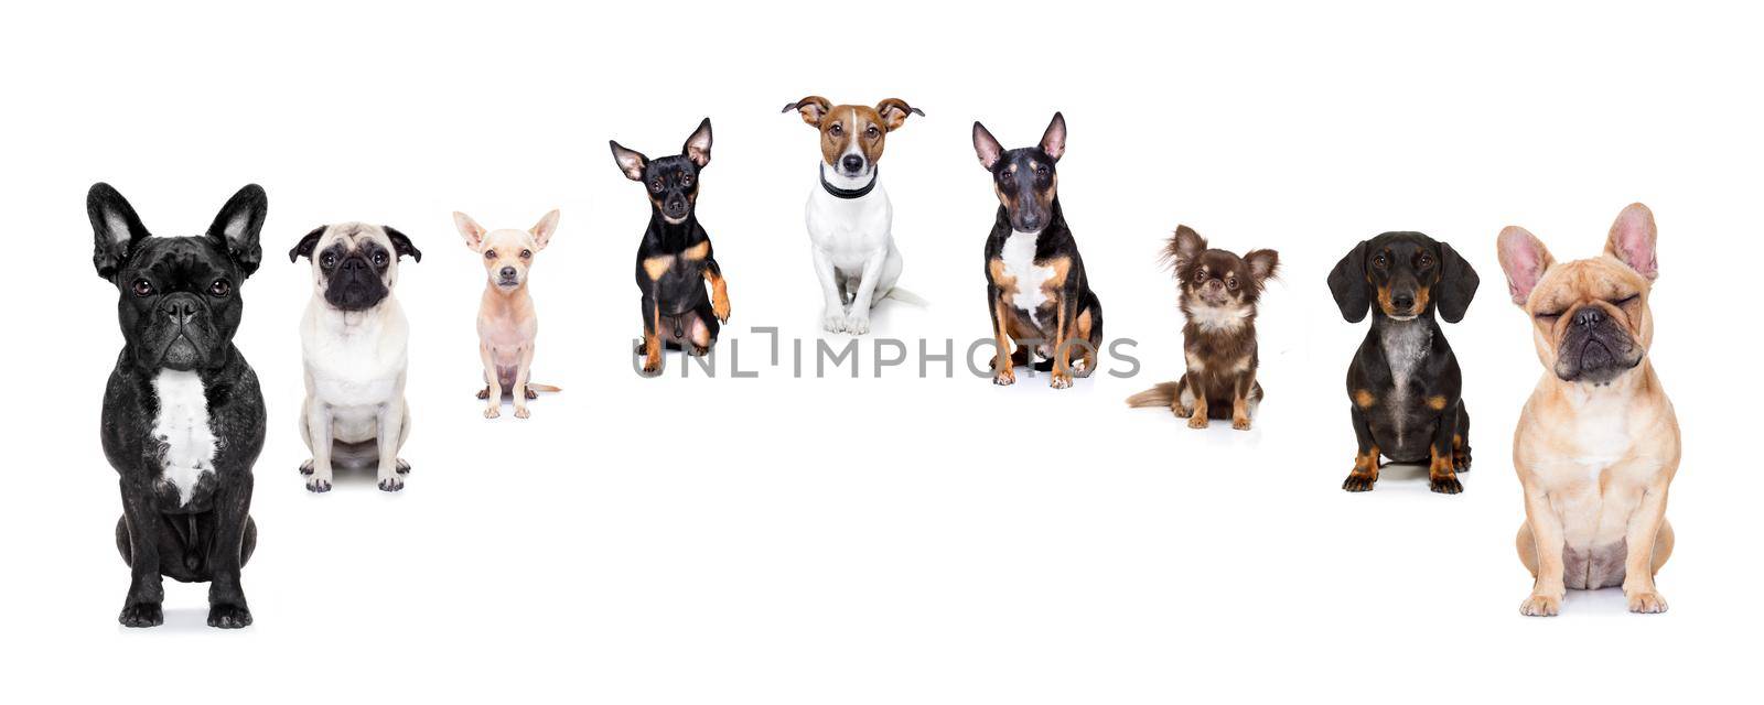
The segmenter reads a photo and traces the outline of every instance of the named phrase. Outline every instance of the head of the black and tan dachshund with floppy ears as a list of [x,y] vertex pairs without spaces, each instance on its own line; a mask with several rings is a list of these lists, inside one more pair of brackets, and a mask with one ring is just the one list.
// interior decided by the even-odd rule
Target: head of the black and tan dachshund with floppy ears
[[1392,321],[1413,321],[1438,307],[1448,323],[1464,319],[1482,280],[1452,245],[1422,233],[1365,240],[1328,275],[1342,317],[1358,323],[1367,307]]

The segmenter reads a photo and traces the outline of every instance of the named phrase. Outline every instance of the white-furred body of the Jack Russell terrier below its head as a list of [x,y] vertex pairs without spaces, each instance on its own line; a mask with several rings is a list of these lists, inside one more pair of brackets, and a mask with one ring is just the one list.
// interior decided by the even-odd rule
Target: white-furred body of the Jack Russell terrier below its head
[[[820,162],[820,174],[840,189],[863,189],[882,178],[873,166],[870,178],[848,178],[826,162]],[[815,277],[826,305],[822,328],[868,333],[870,307],[894,291],[901,268],[893,234],[894,206],[887,190],[877,183],[863,197],[841,199],[815,183],[808,194],[806,220]],[[859,282],[850,307],[840,296],[840,278]]]

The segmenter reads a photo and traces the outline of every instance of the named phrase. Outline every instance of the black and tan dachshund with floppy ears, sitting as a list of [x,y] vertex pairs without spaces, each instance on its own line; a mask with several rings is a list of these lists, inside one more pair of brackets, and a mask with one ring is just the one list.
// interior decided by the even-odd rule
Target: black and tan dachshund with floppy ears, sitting
[[1360,449],[1342,490],[1371,490],[1383,456],[1425,462],[1432,492],[1464,492],[1457,474],[1469,471],[1469,414],[1434,310],[1448,323],[1462,321],[1476,284],[1476,270],[1452,245],[1420,233],[1362,241],[1330,271],[1328,289],[1348,323],[1372,312],[1372,330],[1348,367]]

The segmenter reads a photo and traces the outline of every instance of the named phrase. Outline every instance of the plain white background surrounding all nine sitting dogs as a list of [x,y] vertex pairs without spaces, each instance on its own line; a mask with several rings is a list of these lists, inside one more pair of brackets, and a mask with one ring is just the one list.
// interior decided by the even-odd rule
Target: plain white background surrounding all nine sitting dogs
[[[1185,5],[1185,4],[1184,4]],[[1217,5],[1217,4],[1203,4]],[[34,4],[0,21],[0,215],[11,324],[0,409],[0,680],[9,700],[607,703],[1628,701],[1734,693],[1755,668],[1759,18],[1693,4]],[[1750,69],[1748,69],[1750,67]],[[997,201],[979,118],[1007,145],[1071,125],[1062,201],[1136,379],[995,388],[958,368],[792,379],[778,326],[813,345],[803,201],[818,159],[785,102],[926,111],[887,141],[905,256],[877,337],[990,337],[981,249]],[[609,137],[662,155],[714,123],[699,217],[730,282],[730,379],[639,379],[633,250],[647,219]],[[266,261],[238,345],[270,435],[245,587],[258,624],[116,626],[120,513],[97,441],[122,344],[90,270],[83,197],[116,185],[159,234],[201,231],[247,182],[270,194]],[[1572,594],[1522,619],[1510,434],[1542,372],[1494,236],[1598,252],[1653,206],[1653,363],[1685,434],[1660,575],[1665,615]],[[487,421],[482,266],[448,213],[527,227],[563,210],[533,293],[534,381],[561,395]],[[307,229],[409,233],[409,488],[328,495],[295,467]],[[1192,432],[1122,398],[1180,372],[1155,254],[1185,222],[1279,249],[1254,432]],[[1476,465],[1339,490],[1342,375],[1365,335],[1323,286],[1355,241],[1418,229],[1482,275],[1448,326]],[[838,338],[843,340],[843,338]],[[813,368],[813,360],[806,365]],[[1127,365],[1113,365],[1124,370]],[[697,372],[697,370],[695,370]],[[848,368],[845,370],[848,375]]]

